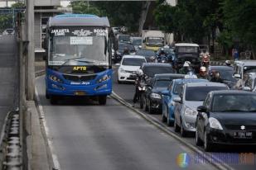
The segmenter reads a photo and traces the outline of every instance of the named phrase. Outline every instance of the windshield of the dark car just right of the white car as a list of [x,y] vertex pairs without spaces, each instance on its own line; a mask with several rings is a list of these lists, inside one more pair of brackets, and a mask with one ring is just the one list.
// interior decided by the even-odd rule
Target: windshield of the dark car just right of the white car
[[146,66],[143,68],[143,73],[152,78],[155,74],[159,73],[174,73],[173,69],[168,66]]

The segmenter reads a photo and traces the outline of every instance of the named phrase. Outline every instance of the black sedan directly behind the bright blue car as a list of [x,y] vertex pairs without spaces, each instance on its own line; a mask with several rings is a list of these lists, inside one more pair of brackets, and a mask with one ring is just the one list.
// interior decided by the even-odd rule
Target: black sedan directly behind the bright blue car
[[171,80],[184,78],[184,74],[162,73],[156,74],[152,82],[147,86],[145,94],[145,111],[152,113],[162,113],[162,91],[166,90]]

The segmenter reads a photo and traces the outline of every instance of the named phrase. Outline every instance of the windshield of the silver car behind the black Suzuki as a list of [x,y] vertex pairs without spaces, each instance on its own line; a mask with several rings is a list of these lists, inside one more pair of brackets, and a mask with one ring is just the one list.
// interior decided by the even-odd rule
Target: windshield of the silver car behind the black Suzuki
[[228,87],[187,87],[186,101],[204,101],[207,94],[216,90],[228,90]]

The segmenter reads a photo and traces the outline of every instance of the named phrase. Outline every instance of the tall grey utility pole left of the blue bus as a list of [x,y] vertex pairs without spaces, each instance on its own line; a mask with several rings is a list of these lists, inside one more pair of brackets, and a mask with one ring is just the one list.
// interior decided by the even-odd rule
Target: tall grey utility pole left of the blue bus
[[34,0],[26,0],[27,40],[27,100],[34,99],[35,92],[35,43],[34,43]]

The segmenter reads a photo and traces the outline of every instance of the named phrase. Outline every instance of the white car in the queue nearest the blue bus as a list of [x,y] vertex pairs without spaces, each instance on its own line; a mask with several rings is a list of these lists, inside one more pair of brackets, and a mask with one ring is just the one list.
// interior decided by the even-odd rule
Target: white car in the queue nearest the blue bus
[[118,83],[134,82],[136,72],[142,63],[147,63],[145,57],[140,55],[123,55],[118,68]]

